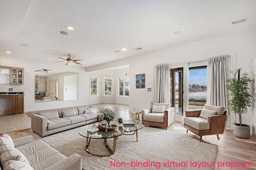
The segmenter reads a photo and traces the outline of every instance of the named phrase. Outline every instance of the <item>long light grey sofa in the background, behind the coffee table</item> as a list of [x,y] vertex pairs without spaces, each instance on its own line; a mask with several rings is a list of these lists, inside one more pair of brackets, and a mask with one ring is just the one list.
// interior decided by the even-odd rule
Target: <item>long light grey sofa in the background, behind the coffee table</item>
[[44,137],[100,121],[101,114],[99,108],[89,105],[40,110],[31,115],[31,129]]

